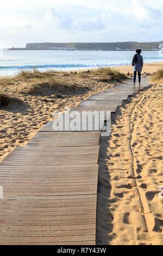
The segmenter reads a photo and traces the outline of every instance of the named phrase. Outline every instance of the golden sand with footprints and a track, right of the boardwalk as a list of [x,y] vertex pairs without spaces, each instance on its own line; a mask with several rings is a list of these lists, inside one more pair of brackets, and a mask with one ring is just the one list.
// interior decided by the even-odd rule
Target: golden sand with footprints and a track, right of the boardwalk
[[129,98],[101,138],[99,245],[162,245],[162,94],[158,84]]

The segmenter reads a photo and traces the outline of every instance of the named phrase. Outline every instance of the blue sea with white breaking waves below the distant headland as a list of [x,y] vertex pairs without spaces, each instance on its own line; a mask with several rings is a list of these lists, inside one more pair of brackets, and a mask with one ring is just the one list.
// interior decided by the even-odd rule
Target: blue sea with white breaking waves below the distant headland
[[[90,69],[130,65],[134,51],[9,51],[0,50],[0,76],[16,75],[21,70]],[[163,62],[157,51],[142,52],[145,63]]]

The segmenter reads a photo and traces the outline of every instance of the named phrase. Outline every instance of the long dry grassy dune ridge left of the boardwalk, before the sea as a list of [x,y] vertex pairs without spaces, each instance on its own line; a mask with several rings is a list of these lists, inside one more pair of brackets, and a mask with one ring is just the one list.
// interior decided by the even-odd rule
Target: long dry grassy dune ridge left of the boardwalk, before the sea
[[90,84],[121,82],[127,79],[126,75],[111,68],[101,68],[83,72],[58,72],[39,70],[21,71],[14,77],[0,79],[0,88],[3,92],[12,92],[23,95],[80,95],[91,90]]

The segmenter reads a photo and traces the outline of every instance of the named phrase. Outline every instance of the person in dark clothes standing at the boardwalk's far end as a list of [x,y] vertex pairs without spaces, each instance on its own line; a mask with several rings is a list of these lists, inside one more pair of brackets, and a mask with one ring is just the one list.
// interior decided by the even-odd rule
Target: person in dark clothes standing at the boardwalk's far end
[[140,54],[141,54],[141,49],[137,49],[136,54],[133,57],[133,62],[132,62],[132,65],[134,66],[134,81],[133,81],[134,86],[135,86],[135,82],[136,82],[137,72],[138,72],[138,77],[139,77],[138,86],[140,86],[140,83],[141,83],[141,71],[143,68],[143,57]]

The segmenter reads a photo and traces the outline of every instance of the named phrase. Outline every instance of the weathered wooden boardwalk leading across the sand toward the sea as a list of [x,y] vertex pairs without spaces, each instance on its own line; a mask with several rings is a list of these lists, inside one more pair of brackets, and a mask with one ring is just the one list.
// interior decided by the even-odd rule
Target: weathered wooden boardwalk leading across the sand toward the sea
[[[82,101],[72,111],[115,112],[141,88],[130,82]],[[105,118],[101,120],[105,121]],[[0,163],[0,245],[95,245],[101,127],[54,131],[45,125]]]

